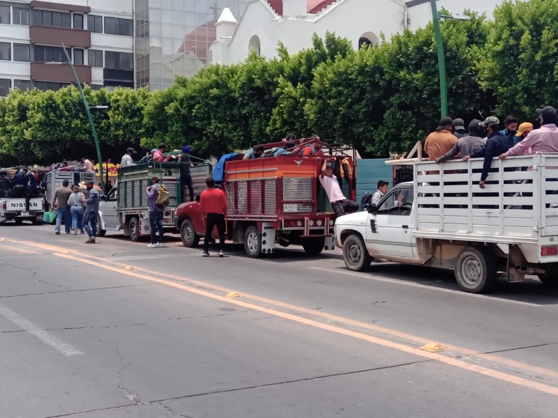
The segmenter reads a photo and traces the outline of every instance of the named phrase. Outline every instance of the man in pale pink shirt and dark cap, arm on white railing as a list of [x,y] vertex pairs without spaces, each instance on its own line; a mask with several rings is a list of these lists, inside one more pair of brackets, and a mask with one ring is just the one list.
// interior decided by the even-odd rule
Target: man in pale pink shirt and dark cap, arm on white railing
[[500,155],[505,160],[512,155],[522,155],[531,148],[531,153],[557,153],[558,152],[558,115],[552,106],[536,109],[541,121],[541,127],[532,130],[520,143],[513,146],[508,152]]

